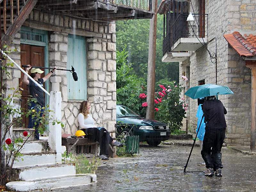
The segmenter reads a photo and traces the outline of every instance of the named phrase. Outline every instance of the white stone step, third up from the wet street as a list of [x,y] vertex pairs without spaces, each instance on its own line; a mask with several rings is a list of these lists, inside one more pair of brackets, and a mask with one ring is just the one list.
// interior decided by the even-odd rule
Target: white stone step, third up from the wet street
[[[56,154],[52,152],[22,153],[23,156],[14,161],[12,168],[22,168],[36,165],[53,165],[56,163]],[[22,161],[23,158],[24,160]]]

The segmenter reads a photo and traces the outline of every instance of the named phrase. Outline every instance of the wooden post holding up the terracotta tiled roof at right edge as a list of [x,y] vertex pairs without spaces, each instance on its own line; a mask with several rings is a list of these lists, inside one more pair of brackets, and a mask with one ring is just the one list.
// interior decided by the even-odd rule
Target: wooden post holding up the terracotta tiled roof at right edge
[[255,151],[255,141],[256,141],[256,61],[246,60],[246,67],[252,69],[252,92],[251,92],[251,150]]

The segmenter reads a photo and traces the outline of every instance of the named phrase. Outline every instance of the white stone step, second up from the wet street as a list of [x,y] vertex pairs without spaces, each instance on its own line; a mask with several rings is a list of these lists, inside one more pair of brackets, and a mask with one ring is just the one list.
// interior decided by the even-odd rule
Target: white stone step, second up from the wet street
[[11,180],[30,181],[75,174],[76,167],[74,164],[56,164],[12,169],[13,178]]

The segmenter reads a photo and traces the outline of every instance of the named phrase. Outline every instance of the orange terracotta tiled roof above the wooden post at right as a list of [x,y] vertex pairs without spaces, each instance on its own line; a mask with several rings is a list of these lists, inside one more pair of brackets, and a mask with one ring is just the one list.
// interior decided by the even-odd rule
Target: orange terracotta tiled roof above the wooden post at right
[[240,56],[252,57],[256,55],[256,36],[250,34],[244,37],[237,31],[224,35],[228,43]]

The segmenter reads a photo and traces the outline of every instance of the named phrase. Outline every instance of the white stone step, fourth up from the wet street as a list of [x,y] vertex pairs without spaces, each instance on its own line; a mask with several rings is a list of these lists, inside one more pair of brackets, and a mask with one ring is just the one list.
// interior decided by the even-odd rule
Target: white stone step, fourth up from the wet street
[[32,153],[32,152],[40,152],[40,151],[47,151],[48,150],[48,142],[47,140],[34,140],[34,141],[27,141],[21,153]]

